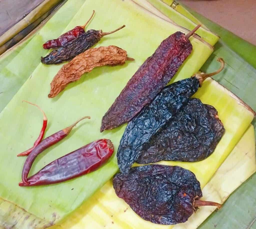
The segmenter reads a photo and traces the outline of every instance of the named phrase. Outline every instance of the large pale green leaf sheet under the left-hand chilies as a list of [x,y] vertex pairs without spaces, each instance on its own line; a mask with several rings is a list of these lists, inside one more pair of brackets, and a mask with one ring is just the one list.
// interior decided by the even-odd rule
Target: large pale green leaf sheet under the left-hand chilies
[[[185,29],[170,24],[128,0],[86,1],[64,31],[83,24],[96,8],[97,11],[88,29],[111,31],[123,24],[126,25],[124,29],[104,37],[97,47],[117,45],[125,49],[136,61],[127,61],[123,66],[94,69],[78,82],[70,84],[53,99],[47,97],[50,82],[62,65],[39,64],[0,114],[0,174],[5,174],[1,177],[0,196],[48,222],[56,223],[79,207],[113,176],[118,166],[116,157],[113,156],[97,171],[68,182],[41,187],[19,187],[25,158],[18,158],[16,155],[31,147],[41,128],[42,119],[38,110],[22,103],[22,100],[34,102],[44,109],[49,119],[46,136],[67,127],[84,115],[91,116],[91,120],[84,121],[84,124],[80,123],[64,141],[38,156],[30,174],[54,159],[100,138],[111,139],[116,152],[125,125],[100,133],[102,116],[138,67],[155,51],[163,39],[178,30],[187,33]],[[52,25],[51,29],[55,26]],[[37,44],[41,45],[44,40],[38,37]],[[189,77],[197,72],[212,53],[209,45],[195,37],[191,38],[191,43],[193,52],[180,68],[177,79]],[[245,115],[243,120],[247,118]]]

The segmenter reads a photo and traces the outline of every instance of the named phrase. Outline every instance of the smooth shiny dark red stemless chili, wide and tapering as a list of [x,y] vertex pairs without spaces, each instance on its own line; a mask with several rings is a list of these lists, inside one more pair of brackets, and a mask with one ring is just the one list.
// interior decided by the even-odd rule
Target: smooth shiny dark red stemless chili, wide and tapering
[[109,139],[91,142],[46,165],[28,178],[28,184],[20,182],[19,186],[56,184],[88,174],[103,165],[113,152]]

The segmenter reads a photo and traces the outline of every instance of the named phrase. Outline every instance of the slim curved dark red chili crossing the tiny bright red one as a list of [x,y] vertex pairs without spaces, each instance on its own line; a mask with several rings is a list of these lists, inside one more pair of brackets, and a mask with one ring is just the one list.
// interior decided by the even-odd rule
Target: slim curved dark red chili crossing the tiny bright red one
[[28,157],[24,163],[24,166],[23,166],[22,181],[24,184],[26,184],[26,185],[29,184],[27,181],[27,177],[28,177],[30,168],[31,168],[33,162],[35,161],[37,155],[42,153],[44,150],[46,150],[50,146],[58,143],[63,138],[65,138],[70,133],[70,131],[73,129],[73,127],[83,119],[90,119],[90,116],[85,116],[85,117],[79,119],[78,121],[76,121],[74,124],[70,125],[69,127],[50,135],[49,137],[47,137],[43,141],[41,141],[39,143],[39,145],[34,148],[34,150],[28,155]]

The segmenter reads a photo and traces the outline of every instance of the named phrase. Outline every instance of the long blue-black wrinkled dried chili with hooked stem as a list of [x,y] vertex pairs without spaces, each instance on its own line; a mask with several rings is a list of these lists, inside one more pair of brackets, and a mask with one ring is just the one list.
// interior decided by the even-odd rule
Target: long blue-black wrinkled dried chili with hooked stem
[[224,61],[221,58],[218,61],[221,62],[221,67],[214,73],[195,74],[165,87],[128,123],[117,152],[121,173],[128,173],[132,164],[141,155],[143,144],[149,142],[150,138],[176,115],[188,99],[196,93],[202,82],[223,69]]

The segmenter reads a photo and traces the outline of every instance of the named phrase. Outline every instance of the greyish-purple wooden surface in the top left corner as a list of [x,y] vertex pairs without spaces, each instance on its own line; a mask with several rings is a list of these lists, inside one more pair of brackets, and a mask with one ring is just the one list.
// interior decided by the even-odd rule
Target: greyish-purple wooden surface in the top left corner
[[0,0],[0,36],[44,0]]

